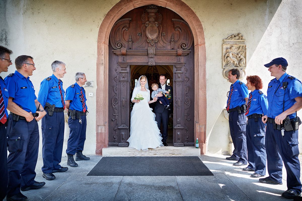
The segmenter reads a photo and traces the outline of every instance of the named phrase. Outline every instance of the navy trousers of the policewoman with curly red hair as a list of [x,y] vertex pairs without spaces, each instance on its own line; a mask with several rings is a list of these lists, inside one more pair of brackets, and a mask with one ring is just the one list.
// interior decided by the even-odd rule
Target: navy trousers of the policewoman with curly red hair
[[265,152],[265,124],[261,117],[258,121],[249,118],[246,124],[246,144],[248,168],[255,170],[255,173],[265,175],[266,152]]

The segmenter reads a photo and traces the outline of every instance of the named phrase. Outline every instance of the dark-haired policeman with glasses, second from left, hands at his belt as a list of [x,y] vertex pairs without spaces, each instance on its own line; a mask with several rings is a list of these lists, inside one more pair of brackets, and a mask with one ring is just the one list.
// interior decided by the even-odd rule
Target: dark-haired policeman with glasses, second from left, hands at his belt
[[46,112],[37,101],[33,83],[28,77],[36,70],[33,58],[18,56],[15,65],[17,71],[4,80],[9,95],[7,109],[10,111],[7,126],[9,155],[6,200],[25,200],[27,197],[20,190],[33,190],[45,185],[45,182],[37,182],[34,178],[39,150],[37,121]]

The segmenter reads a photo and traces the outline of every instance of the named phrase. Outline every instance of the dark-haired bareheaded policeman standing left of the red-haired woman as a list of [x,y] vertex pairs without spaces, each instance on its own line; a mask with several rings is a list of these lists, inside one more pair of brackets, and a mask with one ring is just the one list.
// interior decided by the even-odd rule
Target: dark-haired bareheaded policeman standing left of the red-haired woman
[[246,102],[249,91],[243,82],[239,81],[240,71],[236,68],[229,71],[230,93],[226,102],[229,112],[230,133],[234,143],[234,151],[227,160],[236,160],[235,166],[247,164],[246,150]]

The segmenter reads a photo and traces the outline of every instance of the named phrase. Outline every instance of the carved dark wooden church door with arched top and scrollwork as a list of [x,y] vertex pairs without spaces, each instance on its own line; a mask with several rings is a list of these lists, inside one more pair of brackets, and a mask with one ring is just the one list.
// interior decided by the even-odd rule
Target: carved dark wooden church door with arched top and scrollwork
[[128,145],[130,65],[174,66],[173,143],[194,146],[192,44],[188,24],[167,8],[135,8],[114,24],[109,45],[109,146]]

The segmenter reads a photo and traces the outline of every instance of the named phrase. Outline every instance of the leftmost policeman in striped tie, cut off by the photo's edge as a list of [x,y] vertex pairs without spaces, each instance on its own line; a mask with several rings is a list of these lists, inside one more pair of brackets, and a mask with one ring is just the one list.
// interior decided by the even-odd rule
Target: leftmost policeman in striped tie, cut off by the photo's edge
[[[0,73],[7,72],[10,66],[10,54],[13,53],[6,47],[0,46]],[[8,103],[8,90],[5,82],[0,76],[0,200],[4,199],[7,190],[7,140],[6,129],[7,125],[7,103]]]

